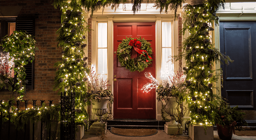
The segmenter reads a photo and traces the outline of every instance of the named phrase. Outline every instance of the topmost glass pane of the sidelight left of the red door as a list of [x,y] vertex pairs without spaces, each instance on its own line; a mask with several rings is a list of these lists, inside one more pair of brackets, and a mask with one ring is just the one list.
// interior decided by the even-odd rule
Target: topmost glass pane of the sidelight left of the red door
[[107,23],[98,23],[98,48],[107,48]]

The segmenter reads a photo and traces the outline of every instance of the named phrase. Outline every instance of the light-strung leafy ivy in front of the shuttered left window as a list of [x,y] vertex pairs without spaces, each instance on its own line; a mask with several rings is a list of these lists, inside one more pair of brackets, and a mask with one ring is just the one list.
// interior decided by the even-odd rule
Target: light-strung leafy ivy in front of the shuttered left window
[[[8,71],[13,69],[14,74],[17,75],[14,91],[17,91],[19,94],[17,99],[22,99],[24,94],[26,94],[26,83],[28,82],[28,80],[25,80],[26,69],[24,66],[27,65],[28,62],[32,62],[35,59],[35,52],[38,50],[38,48],[35,46],[36,41],[34,40],[33,36],[27,34],[24,31],[14,31],[9,37],[5,36],[3,38],[1,45],[3,46],[4,51],[9,53],[8,61],[13,60],[14,64],[17,66],[15,67],[12,65],[11,67],[8,67]],[[6,76],[4,76],[4,78],[6,78]],[[6,80],[12,82],[12,79]]]

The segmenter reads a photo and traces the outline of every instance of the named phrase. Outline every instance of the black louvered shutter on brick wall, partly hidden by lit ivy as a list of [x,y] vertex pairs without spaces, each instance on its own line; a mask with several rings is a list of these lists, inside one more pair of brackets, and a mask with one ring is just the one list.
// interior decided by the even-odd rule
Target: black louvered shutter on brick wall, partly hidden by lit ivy
[[[28,34],[35,36],[35,18],[34,17],[17,17],[16,18],[16,31],[26,31]],[[24,66],[26,68],[25,73],[27,74],[26,79],[28,83],[26,84],[26,89],[34,89],[34,61],[28,62]]]

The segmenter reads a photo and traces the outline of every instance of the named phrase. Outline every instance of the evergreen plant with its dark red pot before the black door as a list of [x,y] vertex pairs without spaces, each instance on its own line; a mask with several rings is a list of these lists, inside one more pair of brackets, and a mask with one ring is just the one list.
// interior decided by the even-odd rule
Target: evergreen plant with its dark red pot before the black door
[[242,130],[242,125],[248,125],[244,120],[244,112],[238,110],[238,106],[230,107],[225,101],[221,100],[219,108],[214,113],[215,123],[220,139],[230,140],[235,134],[235,128]]

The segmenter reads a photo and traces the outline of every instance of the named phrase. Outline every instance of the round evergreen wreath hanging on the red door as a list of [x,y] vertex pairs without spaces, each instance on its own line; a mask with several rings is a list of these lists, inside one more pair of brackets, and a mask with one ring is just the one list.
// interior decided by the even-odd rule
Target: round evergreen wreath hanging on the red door
[[[130,42],[134,41],[135,45],[139,47],[141,45],[141,48],[138,48],[142,50],[142,53],[140,56],[136,58],[131,58],[131,51],[134,49],[133,45],[129,45]],[[137,42],[140,42],[141,44],[136,44]],[[121,66],[125,66],[126,69],[129,69],[131,72],[134,71],[143,71],[149,64],[152,62],[151,55],[153,53],[152,48],[150,47],[150,43],[147,42],[144,38],[127,38],[123,39],[122,43],[118,45],[117,49],[117,55],[118,55],[118,61],[120,62]],[[136,49],[136,48],[135,48]]]

